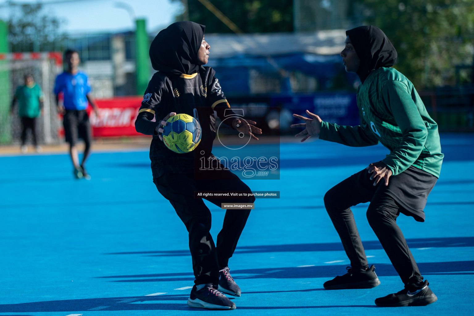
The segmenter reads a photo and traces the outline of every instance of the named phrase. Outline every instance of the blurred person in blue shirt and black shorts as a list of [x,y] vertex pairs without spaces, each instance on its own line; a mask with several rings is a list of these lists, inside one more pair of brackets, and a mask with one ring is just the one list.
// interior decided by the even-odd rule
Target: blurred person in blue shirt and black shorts
[[[79,71],[79,53],[74,50],[67,50],[64,53],[64,59],[67,63],[67,71],[56,77],[54,93],[58,112],[64,115],[63,125],[66,142],[69,143],[69,154],[73,161],[73,174],[76,179],[91,179],[91,176],[85,169],[85,162],[91,154],[91,124],[87,107],[89,103],[94,108],[95,115],[99,116],[99,108],[91,96],[91,85],[89,78],[84,72]],[[63,94],[64,102],[60,104],[59,93]],[[79,155],[77,153],[77,140],[82,138],[85,143],[82,163],[79,164]]]

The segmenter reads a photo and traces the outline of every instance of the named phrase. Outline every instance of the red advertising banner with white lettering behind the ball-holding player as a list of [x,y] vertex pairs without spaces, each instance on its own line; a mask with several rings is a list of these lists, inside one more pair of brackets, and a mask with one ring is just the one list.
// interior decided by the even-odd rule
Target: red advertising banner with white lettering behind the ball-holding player
[[[135,130],[135,119],[143,97],[118,97],[97,99],[99,117],[90,111],[89,117],[94,137],[139,136]],[[89,107],[91,110],[91,107]]]

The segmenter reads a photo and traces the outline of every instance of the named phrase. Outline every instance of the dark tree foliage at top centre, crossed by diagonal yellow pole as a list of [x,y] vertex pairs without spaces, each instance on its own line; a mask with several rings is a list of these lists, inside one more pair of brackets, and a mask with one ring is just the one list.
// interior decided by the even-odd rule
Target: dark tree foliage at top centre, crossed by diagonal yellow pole
[[[232,30],[201,2],[184,1],[187,1],[189,20],[205,25],[206,33],[232,33]],[[244,33],[293,31],[293,1],[291,0],[210,0],[210,2]],[[182,21],[183,15],[179,15],[176,19]]]

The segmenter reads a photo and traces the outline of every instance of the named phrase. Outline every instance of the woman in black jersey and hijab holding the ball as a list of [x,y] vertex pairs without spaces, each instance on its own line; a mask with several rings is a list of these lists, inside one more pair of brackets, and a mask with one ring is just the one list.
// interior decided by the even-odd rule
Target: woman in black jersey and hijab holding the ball
[[[150,47],[150,59],[157,72],[148,83],[135,122],[137,132],[153,135],[150,160],[153,182],[158,191],[173,205],[189,232],[189,248],[195,281],[188,305],[190,307],[235,309],[221,292],[240,296],[240,288],[229,273],[228,260],[234,253],[250,209],[227,210],[217,246],[209,233],[211,214],[203,200],[194,198],[194,191],[250,191],[235,174],[220,165],[212,153],[216,137],[214,111],[224,121],[230,106],[208,61],[210,46],[204,40],[204,26],[190,21],[173,23],[160,31]],[[190,116],[197,111],[202,128],[201,143],[191,153],[174,153],[162,141],[166,120],[176,113]],[[226,113],[228,116],[228,113]],[[153,117],[163,118],[153,122]],[[228,120],[226,120],[228,121]],[[231,122],[239,133],[258,138],[262,134],[255,122]],[[212,168],[201,170],[202,158]],[[221,203],[253,203],[255,198],[206,198],[217,206]]]

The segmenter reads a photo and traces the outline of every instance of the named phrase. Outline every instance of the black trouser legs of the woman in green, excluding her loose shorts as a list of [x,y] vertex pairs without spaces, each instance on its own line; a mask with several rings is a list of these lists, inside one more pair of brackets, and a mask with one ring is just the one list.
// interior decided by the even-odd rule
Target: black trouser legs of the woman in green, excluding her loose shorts
[[[358,270],[366,269],[369,265],[350,207],[370,202],[366,213],[367,220],[393,267],[404,284],[417,283],[421,282],[423,277],[396,222],[400,213],[409,212],[404,210],[391,194],[391,187],[406,184],[399,183],[401,181],[406,179],[396,175],[390,177],[389,186],[385,186],[384,180],[373,186],[374,180],[370,180],[370,174],[364,169],[331,188],[324,196],[324,205],[341,238],[352,268]],[[428,193],[431,189],[432,187],[427,189]]]

